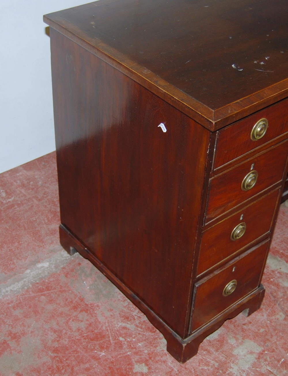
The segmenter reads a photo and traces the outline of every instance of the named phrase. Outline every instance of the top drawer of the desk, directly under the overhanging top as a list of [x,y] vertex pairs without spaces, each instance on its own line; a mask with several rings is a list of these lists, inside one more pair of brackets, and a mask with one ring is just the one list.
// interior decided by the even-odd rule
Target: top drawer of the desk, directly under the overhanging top
[[[268,120],[268,128],[260,139],[253,140],[251,132],[262,118]],[[261,126],[262,127],[262,126]],[[264,145],[277,136],[288,132],[288,100],[259,111],[245,120],[218,132],[214,169]]]

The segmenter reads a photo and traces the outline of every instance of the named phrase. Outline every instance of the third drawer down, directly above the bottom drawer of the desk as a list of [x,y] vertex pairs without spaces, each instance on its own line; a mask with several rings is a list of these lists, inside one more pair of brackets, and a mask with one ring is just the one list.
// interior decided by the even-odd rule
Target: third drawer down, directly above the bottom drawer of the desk
[[279,191],[267,194],[203,232],[197,275],[270,231]]

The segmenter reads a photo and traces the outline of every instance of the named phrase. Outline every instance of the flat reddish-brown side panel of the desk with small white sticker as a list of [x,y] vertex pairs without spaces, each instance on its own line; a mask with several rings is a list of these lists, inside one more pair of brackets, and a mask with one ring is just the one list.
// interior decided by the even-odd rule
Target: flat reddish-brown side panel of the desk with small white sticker
[[50,36],[61,223],[183,338],[211,134]]

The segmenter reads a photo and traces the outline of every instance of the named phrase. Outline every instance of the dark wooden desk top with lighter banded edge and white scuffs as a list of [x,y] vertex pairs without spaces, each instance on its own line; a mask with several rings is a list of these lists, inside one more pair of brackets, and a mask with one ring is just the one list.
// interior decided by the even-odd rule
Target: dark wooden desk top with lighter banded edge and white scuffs
[[287,0],[100,0],[44,20],[179,100],[211,130],[288,96]]

